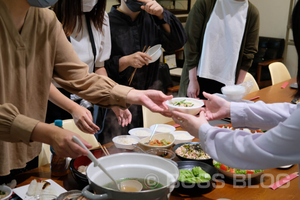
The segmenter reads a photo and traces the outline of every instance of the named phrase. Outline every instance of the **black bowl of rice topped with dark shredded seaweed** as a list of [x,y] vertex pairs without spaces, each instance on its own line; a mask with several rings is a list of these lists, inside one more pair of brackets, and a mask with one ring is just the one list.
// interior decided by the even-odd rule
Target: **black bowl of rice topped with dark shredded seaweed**
[[202,150],[200,142],[179,143],[173,147],[173,151],[180,160],[199,161],[213,165],[211,157]]

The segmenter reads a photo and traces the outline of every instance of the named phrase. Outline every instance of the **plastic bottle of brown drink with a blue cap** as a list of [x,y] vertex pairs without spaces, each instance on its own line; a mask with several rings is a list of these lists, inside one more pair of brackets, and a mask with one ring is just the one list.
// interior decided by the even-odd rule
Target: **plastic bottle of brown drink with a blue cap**
[[[54,125],[60,128],[62,127],[61,120],[55,120]],[[59,157],[55,154],[54,149],[50,146],[51,159],[50,159],[50,171],[53,176],[63,176],[67,174],[68,160],[67,158]]]

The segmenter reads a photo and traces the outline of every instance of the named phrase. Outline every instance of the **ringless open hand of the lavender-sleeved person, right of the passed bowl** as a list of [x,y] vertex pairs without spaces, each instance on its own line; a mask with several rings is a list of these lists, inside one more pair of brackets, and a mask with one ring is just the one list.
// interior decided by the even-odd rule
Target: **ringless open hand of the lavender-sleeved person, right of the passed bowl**
[[200,111],[205,112],[208,121],[230,117],[230,102],[213,94],[203,92],[203,96],[208,100],[203,100],[205,107]]

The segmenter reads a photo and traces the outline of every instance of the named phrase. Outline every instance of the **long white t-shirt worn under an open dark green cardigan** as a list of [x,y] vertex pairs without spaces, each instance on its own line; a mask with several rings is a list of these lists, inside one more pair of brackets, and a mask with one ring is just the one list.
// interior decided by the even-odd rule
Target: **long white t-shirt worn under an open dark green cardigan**
[[235,82],[247,10],[248,1],[217,0],[204,33],[199,77],[223,84]]

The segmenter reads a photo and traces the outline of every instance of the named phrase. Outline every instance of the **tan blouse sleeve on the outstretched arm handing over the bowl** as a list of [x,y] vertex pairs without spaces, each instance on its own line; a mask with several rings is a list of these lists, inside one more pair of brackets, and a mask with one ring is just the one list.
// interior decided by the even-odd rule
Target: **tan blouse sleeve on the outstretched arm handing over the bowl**
[[128,108],[130,104],[126,103],[126,96],[133,88],[118,85],[106,76],[88,73],[88,65],[79,60],[58,21],[57,29],[52,76],[55,82],[67,91],[98,106]]

